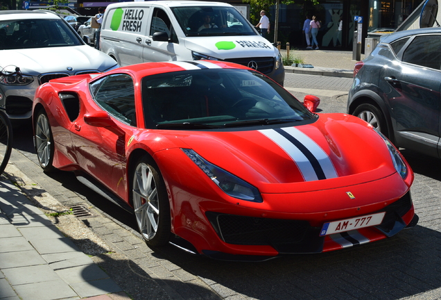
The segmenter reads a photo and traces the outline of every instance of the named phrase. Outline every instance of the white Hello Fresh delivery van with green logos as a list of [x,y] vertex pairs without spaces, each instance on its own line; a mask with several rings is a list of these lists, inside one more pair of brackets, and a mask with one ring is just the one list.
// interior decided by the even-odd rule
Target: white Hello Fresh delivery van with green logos
[[101,51],[119,65],[151,61],[225,60],[284,83],[282,57],[227,3],[135,1],[107,6]]

